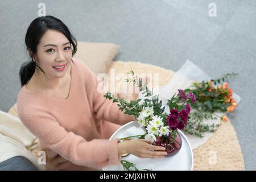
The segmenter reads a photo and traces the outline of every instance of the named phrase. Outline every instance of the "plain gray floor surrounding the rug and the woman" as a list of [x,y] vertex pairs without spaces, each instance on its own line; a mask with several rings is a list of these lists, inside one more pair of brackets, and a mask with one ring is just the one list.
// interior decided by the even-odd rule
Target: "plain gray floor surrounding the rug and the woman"
[[[230,85],[242,102],[230,117],[246,169],[256,169],[256,1],[1,1],[0,110],[7,111],[16,102],[19,68],[27,61],[24,36],[38,15],[40,2],[78,40],[121,45],[115,60],[141,61],[176,71],[189,59],[213,78],[239,73]],[[208,15],[212,2],[217,5],[217,17]]]

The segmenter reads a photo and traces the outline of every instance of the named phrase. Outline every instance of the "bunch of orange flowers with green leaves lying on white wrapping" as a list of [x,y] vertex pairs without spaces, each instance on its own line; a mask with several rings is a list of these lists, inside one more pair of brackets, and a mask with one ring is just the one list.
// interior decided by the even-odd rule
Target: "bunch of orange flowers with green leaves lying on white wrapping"
[[218,125],[204,123],[204,119],[220,117],[222,121],[228,120],[226,114],[233,113],[237,103],[233,97],[233,90],[225,81],[228,77],[236,75],[238,74],[228,73],[216,80],[195,81],[190,88],[185,89],[185,93],[192,92],[197,98],[195,104],[191,106],[191,118],[183,130],[185,134],[202,138],[203,133],[213,133],[218,127]]

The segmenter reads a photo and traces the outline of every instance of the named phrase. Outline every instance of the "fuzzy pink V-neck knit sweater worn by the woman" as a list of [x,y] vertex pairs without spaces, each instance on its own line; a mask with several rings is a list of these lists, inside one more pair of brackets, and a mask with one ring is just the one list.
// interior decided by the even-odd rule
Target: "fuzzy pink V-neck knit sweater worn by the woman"
[[66,100],[22,86],[17,110],[20,120],[46,147],[49,158],[67,160],[63,169],[98,168],[118,164],[115,130],[134,118],[119,110],[97,90],[96,75],[81,60],[71,63],[71,88]]

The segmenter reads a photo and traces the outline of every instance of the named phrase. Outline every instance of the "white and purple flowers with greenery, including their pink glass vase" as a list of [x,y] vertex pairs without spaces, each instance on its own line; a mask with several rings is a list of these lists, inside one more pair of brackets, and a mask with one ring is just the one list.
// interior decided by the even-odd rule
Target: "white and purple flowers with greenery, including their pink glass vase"
[[177,129],[183,130],[189,120],[191,104],[196,102],[195,94],[179,89],[170,100],[170,114],[164,113],[162,101],[158,95],[153,96],[153,90],[149,90],[146,85],[142,86],[142,78],[134,75],[133,71],[128,72],[131,78],[127,82],[133,82],[146,97],[145,99],[131,100],[130,102],[115,97],[110,92],[104,95],[105,98],[118,102],[120,110],[125,110],[125,114],[133,115],[137,118],[140,127],[144,127],[146,133],[121,138],[142,138],[150,140],[153,145],[166,148],[168,156],[175,155],[181,148],[182,140]]

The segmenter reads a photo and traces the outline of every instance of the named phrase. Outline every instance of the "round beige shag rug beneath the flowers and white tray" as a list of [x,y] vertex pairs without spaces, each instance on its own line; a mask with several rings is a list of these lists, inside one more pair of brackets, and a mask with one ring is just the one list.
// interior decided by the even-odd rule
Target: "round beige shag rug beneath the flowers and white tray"
[[[125,61],[114,61],[110,65],[108,75],[126,74],[131,69],[138,74],[153,74],[147,85],[149,88],[154,87],[154,73],[159,74],[159,86],[166,85],[174,75],[174,72],[154,65]],[[115,84],[117,85],[118,82],[121,81],[115,81]],[[15,105],[10,108],[9,114],[18,117]],[[37,153],[36,150],[31,152]],[[222,122],[206,143],[193,150],[193,155],[194,170],[245,170],[241,147],[230,121]]]

